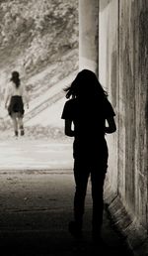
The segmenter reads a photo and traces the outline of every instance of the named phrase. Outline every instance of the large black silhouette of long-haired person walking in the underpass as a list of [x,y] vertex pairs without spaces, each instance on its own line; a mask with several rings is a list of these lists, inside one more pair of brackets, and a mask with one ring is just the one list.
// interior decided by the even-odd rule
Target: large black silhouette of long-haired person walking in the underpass
[[[114,111],[96,74],[80,71],[71,85],[64,89],[66,101],[62,119],[65,119],[65,135],[74,137],[74,220],[69,222],[70,233],[82,235],[83,214],[88,179],[91,176],[93,214],[92,236],[100,242],[104,211],[104,183],[108,169],[108,145],[106,133],[116,130]],[[106,120],[108,126],[106,126]],[[73,127],[73,129],[72,129]]]

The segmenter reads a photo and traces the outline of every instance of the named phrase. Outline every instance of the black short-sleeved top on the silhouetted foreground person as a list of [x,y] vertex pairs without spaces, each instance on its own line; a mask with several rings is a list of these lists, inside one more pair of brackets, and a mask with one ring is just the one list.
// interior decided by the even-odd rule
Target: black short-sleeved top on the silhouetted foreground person
[[[85,99],[79,97],[70,99],[65,105],[65,115],[73,120],[75,137],[79,140],[94,138],[101,139],[105,136],[105,122],[108,116],[114,115],[111,103],[104,99]],[[67,117],[67,118],[68,118]]]

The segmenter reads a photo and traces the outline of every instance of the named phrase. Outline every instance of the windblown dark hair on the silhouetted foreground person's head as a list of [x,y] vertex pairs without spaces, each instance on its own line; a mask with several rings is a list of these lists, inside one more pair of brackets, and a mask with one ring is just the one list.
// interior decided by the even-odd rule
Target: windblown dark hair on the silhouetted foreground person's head
[[72,81],[69,87],[64,89],[66,91],[66,98],[105,98],[108,96],[106,90],[98,80],[97,75],[89,70],[83,69],[78,72],[75,79]]

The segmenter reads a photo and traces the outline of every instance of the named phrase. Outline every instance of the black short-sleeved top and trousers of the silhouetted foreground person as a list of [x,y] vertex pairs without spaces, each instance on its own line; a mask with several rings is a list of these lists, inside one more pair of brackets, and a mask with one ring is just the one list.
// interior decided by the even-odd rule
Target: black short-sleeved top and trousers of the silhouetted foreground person
[[75,221],[81,228],[87,184],[91,175],[93,232],[98,232],[103,223],[103,192],[109,155],[105,139],[105,122],[108,117],[114,115],[107,98],[95,98],[90,101],[74,98],[66,101],[61,116],[62,119],[72,120],[74,124]]

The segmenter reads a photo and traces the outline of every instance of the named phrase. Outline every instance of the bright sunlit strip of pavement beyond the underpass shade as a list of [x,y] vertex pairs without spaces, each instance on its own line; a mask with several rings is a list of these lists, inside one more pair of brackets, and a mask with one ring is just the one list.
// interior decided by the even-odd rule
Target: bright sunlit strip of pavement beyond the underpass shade
[[32,140],[28,137],[0,141],[0,172],[72,167],[72,142],[57,143],[54,140]]

